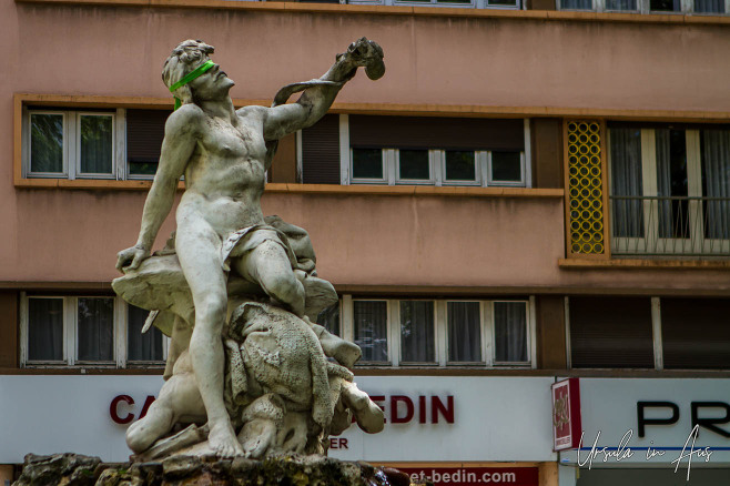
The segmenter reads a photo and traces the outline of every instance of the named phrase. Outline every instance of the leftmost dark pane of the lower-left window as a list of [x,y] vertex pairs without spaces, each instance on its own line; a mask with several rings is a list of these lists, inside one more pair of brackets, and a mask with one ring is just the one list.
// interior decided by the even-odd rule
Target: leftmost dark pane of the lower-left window
[[28,360],[63,360],[63,298],[28,300]]

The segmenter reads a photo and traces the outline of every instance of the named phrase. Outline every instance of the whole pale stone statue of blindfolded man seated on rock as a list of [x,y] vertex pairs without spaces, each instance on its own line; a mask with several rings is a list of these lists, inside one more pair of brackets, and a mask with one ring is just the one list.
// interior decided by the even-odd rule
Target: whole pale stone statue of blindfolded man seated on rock
[[[280,90],[272,108],[239,110],[212,53],[186,40],[165,61],[180,108],[165,123],[138,242],[118,255],[124,275],[113,288],[151,311],[145,330],[172,337],[165,384],[126,442],[141,458],[322,454],[353,418],[379,432],[383,413],[353,382],[359,348],[313,324],[337,296],[317,277],[308,234],[264,217],[260,201],[277,140],[320,120],[358,67],[381,78],[383,50],[362,38],[322,78]],[[176,231],[151,255],[182,175]]]

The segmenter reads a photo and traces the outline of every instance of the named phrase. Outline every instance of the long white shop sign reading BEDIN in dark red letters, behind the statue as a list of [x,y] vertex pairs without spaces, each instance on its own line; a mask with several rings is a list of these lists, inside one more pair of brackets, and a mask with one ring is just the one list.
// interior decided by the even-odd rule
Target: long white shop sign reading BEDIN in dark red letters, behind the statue
[[[399,464],[556,459],[547,399],[554,378],[549,376],[356,379],[385,409],[386,427],[379,434],[366,434],[354,425],[331,437],[332,457]],[[0,376],[0,411],[13,411],[0,414],[3,437],[13,437],[0,441],[0,464],[22,463],[29,452],[62,450],[107,462],[126,460],[126,427],[144,416],[163,383],[162,376],[152,375]],[[497,478],[511,482],[510,476],[504,480],[489,476],[489,484]]]

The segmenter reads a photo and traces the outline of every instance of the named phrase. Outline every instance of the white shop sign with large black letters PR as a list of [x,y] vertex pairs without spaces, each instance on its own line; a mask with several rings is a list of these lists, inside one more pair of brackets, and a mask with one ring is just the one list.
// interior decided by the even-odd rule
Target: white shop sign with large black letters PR
[[[560,462],[581,467],[730,464],[730,379],[580,378],[582,439]],[[580,437],[579,437],[580,438]]]

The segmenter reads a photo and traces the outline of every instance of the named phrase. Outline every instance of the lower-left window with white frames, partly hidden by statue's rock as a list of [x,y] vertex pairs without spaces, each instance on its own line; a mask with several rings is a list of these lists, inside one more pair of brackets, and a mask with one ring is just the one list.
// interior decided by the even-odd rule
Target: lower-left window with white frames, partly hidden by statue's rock
[[23,295],[21,366],[161,364],[165,338],[149,312],[112,296]]

